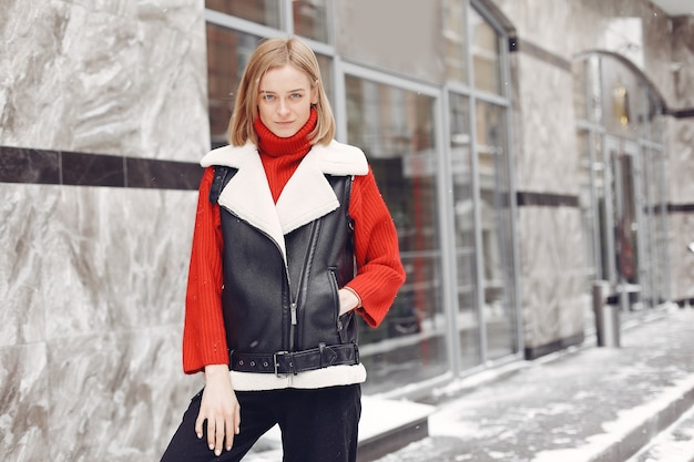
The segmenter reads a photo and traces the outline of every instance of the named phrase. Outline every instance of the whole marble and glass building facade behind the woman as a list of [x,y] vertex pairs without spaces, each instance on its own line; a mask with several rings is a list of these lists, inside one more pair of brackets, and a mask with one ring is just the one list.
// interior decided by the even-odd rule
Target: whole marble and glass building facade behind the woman
[[[0,453],[152,460],[181,371],[197,161],[264,37],[318,55],[407,283],[365,393],[420,398],[694,302],[694,16],[649,1],[0,3]],[[557,27],[555,24],[562,24]]]

